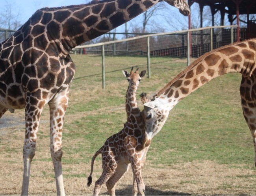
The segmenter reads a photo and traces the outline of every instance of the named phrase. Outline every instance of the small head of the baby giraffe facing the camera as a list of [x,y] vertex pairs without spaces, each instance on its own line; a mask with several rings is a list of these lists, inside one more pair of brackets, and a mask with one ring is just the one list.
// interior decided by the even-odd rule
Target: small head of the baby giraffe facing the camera
[[136,69],[136,71],[133,71],[134,67],[132,67],[130,74],[125,71],[122,70],[122,73],[124,74],[124,76],[127,78],[128,82],[129,82],[129,86],[133,89],[137,88],[139,86],[139,82],[141,81],[141,78],[143,76],[145,76],[146,71],[141,71],[141,73],[139,73],[139,68]]

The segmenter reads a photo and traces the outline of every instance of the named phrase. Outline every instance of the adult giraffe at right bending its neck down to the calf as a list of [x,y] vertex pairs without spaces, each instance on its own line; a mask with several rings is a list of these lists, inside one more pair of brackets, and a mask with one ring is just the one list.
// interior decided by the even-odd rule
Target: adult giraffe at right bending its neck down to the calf
[[163,87],[151,101],[144,98],[144,143],[150,142],[161,130],[169,111],[177,103],[207,82],[231,72],[242,74],[241,105],[254,142],[256,166],[256,39],[226,45],[204,54]]

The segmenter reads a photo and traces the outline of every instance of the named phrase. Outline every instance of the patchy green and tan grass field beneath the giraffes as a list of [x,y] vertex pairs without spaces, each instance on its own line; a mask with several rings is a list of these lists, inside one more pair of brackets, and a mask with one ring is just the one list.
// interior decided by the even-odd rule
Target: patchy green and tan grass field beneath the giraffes
[[[146,70],[146,58],[106,57],[106,89],[102,90],[101,57],[73,55],[76,74],[70,89],[63,131],[63,177],[67,195],[91,195],[87,187],[91,158],[106,138],[120,131],[128,82],[121,70]],[[139,94],[156,93],[186,68],[186,60],[152,58],[152,77],[142,78]],[[143,178],[147,195],[256,195],[254,147],[243,118],[240,74],[226,74],[207,83],[169,114],[150,145]],[[139,101],[141,109],[142,103]],[[0,121],[0,195],[21,193],[24,110],[7,112]],[[54,195],[50,158],[49,109],[39,125],[32,161],[30,195]],[[93,183],[100,176],[96,159]],[[108,194],[106,187],[102,195]],[[132,172],[119,181],[116,194],[132,194]]]

